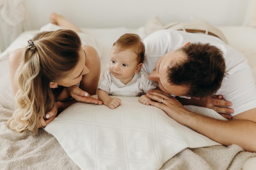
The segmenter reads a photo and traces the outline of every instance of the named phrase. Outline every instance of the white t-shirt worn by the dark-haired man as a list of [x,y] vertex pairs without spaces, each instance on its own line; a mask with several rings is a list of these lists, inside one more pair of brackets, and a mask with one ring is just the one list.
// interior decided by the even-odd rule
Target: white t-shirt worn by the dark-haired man
[[162,55],[178,49],[186,42],[209,43],[218,47],[225,58],[227,76],[224,77],[216,95],[223,95],[223,99],[232,102],[233,105],[230,107],[234,109],[232,116],[256,108],[256,85],[247,59],[219,38],[202,33],[167,29],[149,35],[143,42],[146,51],[142,69],[147,74],[153,71],[157,60]]

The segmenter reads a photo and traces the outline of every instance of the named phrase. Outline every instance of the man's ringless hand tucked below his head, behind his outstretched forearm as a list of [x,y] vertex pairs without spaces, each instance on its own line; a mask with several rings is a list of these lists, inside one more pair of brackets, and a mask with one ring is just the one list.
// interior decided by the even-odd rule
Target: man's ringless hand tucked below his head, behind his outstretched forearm
[[199,99],[201,103],[200,106],[211,108],[218,112],[220,115],[226,119],[232,119],[230,113],[234,113],[232,108],[227,108],[227,106],[232,106],[232,103],[223,99],[222,95],[213,95],[211,97],[206,97]]

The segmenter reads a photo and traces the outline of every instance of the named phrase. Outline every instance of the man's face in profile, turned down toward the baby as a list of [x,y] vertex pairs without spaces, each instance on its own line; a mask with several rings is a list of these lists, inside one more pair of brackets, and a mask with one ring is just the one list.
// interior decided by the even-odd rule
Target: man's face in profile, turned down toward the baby
[[166,53],[159,58],[155,64],[155,69],[148,75],[148,78],[154,82],[157,82],[159,88],[165,93],[175,96],[185,96],[187,94],[188,88],[186,86],[170,84],[167,77],[168,66],[171,67],[178,61],[185,59],[186,55],[180,51],[171,51]]

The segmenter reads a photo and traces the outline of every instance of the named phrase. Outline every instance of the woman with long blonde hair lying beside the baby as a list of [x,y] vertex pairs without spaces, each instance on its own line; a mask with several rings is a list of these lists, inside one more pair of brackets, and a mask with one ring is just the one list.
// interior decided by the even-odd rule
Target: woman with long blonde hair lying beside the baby
[[90,96],[101,72],[96,49],[82,46],[81,30],[60,15],[53,13],[51,22],[66,29],[40,32],[9,56],[16,110],[8,126],[18,132],[36,134],[76,101],[102,104]]

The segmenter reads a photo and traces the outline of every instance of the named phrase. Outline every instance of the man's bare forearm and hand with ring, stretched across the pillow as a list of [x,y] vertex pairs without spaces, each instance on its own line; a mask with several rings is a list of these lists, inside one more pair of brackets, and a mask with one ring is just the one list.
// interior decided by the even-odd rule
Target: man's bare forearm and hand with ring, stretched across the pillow
[[[256,108],[247,110],[233,117],[233,120],[221,121],[197,113],[193,113],[174,97],[158,92],[148,92],[147,97],[158,102],[149,104],[166,112],[178,123],[188,126],[198,133],[229,146],[237,144],[244,150],[256,152]],[[163,103],[159,103],[164,98]]]

